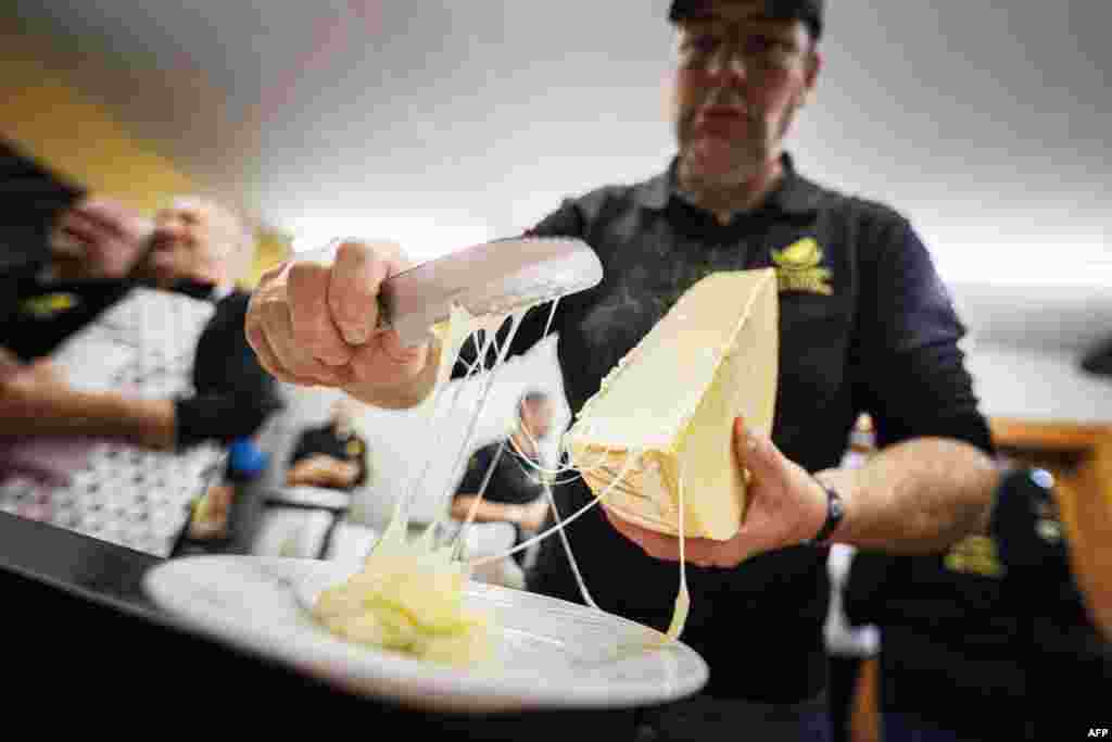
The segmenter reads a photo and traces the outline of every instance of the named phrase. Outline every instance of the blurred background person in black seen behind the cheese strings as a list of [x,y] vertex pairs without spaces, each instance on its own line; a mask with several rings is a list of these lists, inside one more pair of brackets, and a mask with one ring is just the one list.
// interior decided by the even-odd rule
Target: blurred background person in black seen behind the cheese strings
[[[513,523],[516,543],[526,533],[539,531],[548,514],[540,445],[552,433],[553,404],[545,393],[528,392],[518,403],[518,410],[517,426],[509,436],[471,454],[451,501],[451,516],[456,520],[466,520],[474,507],[476,522]],[[476,504],[480,491],[483,498]],[[515,556],[522,562],[525,555],[518,552]]]

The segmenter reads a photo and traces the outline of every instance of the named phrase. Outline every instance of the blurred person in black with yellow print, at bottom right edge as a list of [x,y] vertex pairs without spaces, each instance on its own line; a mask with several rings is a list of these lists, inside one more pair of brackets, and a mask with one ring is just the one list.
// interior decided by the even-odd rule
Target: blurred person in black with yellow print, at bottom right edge
[[1020,467],[1004,476],[984,534],[941,555],[857,555],[846,612],[881,630],[885,740],[1043,740],[1049,710],[1059,724],[1101,719],[1112,644],[1086,611],[1070,551],[1051,475]]

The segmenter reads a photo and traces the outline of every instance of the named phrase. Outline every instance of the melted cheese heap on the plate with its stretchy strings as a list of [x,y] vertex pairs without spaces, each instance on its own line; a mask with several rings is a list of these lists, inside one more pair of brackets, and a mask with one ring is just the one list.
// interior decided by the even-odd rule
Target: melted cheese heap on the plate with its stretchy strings
[[[504,324],[507,316],[476,318],[469,316],[465,310],[454,307],[447,327],[437,328],[441,344],[441,357],[435,388],[430,395],[431,402],[428,404],[426,424],[430,433],[437,417],[437,410],[440,407],[441,393],[447,385],[451,369],[458,360],[460,349],[468,340],[475,344],[478,353],[475,362],[467,365],[465,378],[470,378],[473,374],[480,370],[487,373],[475,409],[468,416],[467,431],[453,463],[453,474],[458,473],[460,464],[465,458],[478,418],[486,407],[489,392],[493,388],[498,372],[503,368],[505,356],[513,344],[514,337],[527,310],[508,315],[508,318],[512,319],[509,335],[500,344],[497,342],[497,329]],[[555,310],[556,303],[554,301],[544,336],[547,336],[550,329]],[[484,334],[481,343],[478,339],[479,333]],[[495,350],[496,360],[493,368],[487,369],[485,360],[492,347]],[[455,412],[459,404],[463,386],[463,383],[457,386],[455,394],[451,396],[450,404],[444,414]],[[530,436],[529,441],[536,449],[537,442],[532,438],[532,434],[528,431],[526,431],[526,435]],[[509,447],[513,454],[516,454],[526,466],[544,474],[548,477],[548,481],[558,482],[559,475],[568,472],[574,472],[574,476],[582,477],[584,473],[607,471],[604,462],[608,458],[609,448],[605,448],[602,452],[597,462],[590,462],[587,466],[584,466],[580,462],[580,466],[575,467],[569,463],[570,456],[566,458],[564,456],[567,453],[565,445],[566,439],[562,437],[559,446],[560,455],[557,459],[558,464],[554,468],[546,468],[525,456],[516,441],[509,439]],[[367,557],[365,570],[355,575],[345,585],[326,591],[326,594],[318,601],[315,614],[336,633],[356,641],[401,649],[434,660],[456,663],[470,663],[476,661],[476,659],[487,657],[490,654],[486,639],[490,621],[486,616],[469,615],[463,611],[464,584],[469,578],[474,567],[507,558],[539,543],[554,532],[560,535],[564,551],[572,565],[584,601],[587,605],[598,610],[598,605],[590,596],[579,572],[577,561],[575,560],[564,528],[584,515],[595,504],[604,501],[616,487],[622,486],[631,466],[639,459],[639,454],[627,451],[622,469],[616,475],[609,472],[612,479],[605,489],[594,497],[590,503],[566,520],[560,518],[550,487],[546,486],[545,497],[553,509],[556,521],[554,527],[548,528],[544,533],[515,546],[504,554],[465,562],[461,560],[461,556],[466,543],[467,530],[474,522],[475,513],[490,482],[494,467],[498,464],[499,458],[505,455],[507,441],[504,441],[485,473],[475,502],[471,504],[463,525],[455,534],[455,543],[449,543],[444,547],[436,547],[434,537],[437,528],[446,524],[449,513],[449,508],[447,507],[444,508],[443,516],[430,524],[419,538],[410,542],[406,536],[409,527],[408,520],[411,499],[424,486],[430,469],[430,459],[426,461],[424,471],[411,481],[407,492],[396,502],[390,523],[383,537],[376,543],[371,554]],[[565,461],[568,463],[563,463]],[[565,482],[572,481],[574,476],[565,478]],[[454,477],[449,477],[449,479],[454,482]],[[449,485],[445,497],[450,498],[453,492]],[[688,596],[683,536],[684,502],[682,483],[679,501],[681,587],[672,625],[658,643],[677,637],[683,630],[683,624],[687,615]],[[425,575],[425,578],[415,582],[414,577],[417,574]],[[415,592],[415,590],[418,592]],[[370,597],[368,598],[368,596]],[[426,602],[423,603],[421,601]]]

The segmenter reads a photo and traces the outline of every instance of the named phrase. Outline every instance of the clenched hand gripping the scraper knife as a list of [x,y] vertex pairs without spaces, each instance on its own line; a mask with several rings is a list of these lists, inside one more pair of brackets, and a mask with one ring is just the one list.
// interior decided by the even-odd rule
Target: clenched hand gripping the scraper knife
[[345,241],[330,266],[287,260],[251,296],[248,343],[281,382],[342,388],[380,406],[416,404],[431,387],[429,345],[406,347],[378,326],[379,287],[406,267],[388,243]]

